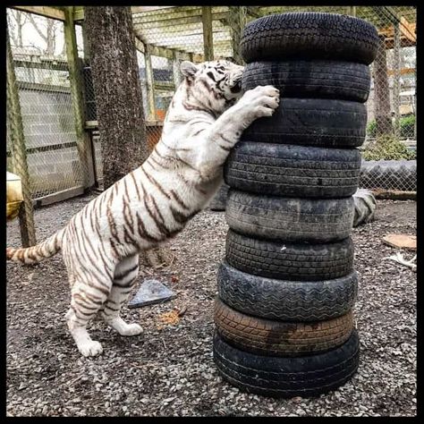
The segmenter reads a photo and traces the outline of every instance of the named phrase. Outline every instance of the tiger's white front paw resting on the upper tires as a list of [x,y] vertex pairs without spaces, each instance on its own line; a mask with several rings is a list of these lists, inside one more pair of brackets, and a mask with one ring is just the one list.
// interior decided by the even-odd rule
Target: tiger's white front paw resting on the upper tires
[[272,116],[280,104],[280,91],[272,85],[258,86],[246,91],[239,102],[248,120]]

